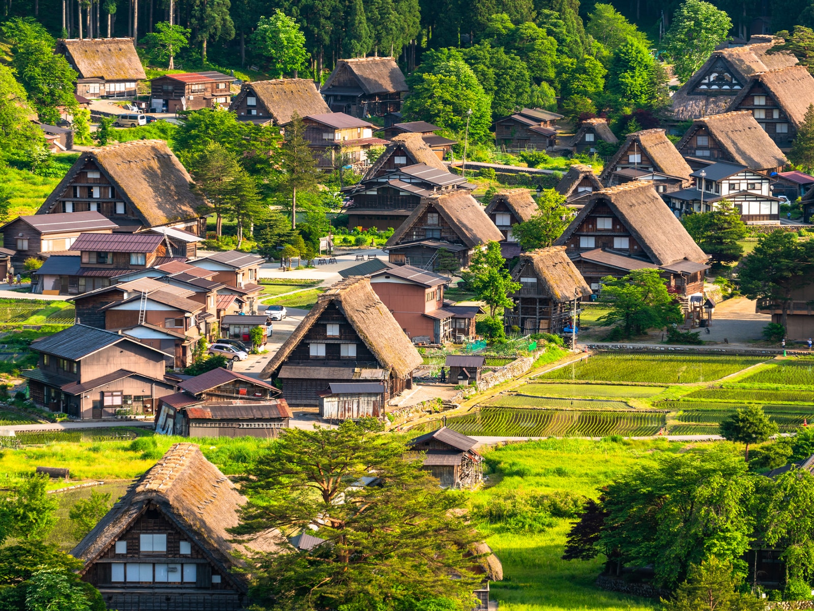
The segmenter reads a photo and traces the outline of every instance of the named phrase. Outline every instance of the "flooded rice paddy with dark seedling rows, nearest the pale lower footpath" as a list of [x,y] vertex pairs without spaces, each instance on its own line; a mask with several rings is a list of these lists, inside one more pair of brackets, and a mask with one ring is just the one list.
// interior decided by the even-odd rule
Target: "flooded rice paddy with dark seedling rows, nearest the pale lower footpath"
[[[440,421],[425,430],[440,427]],[[492,409],[447,419],[458,433],[505,437],[606,437],[608,435],[654,435],[667,424],[658,411],[559,411]],[[418,428],[414,429],[418,432]]]

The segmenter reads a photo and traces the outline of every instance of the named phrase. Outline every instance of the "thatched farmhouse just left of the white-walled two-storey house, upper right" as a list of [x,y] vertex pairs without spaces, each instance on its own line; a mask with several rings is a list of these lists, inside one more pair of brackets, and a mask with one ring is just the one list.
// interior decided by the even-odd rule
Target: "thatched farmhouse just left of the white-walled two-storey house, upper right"
[[611,174],[628,168],[667,174],[679,178],[684,184],[689,182],[689,173],[693,171],[664,130],[641,130],[628,134],[619,151],[605,164],[599,180],[606,186],[612,186]]

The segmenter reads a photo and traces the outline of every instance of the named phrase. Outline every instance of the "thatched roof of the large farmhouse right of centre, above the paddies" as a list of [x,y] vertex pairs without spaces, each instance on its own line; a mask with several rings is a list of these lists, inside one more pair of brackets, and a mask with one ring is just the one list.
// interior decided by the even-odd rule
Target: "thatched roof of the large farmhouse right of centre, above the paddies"
[[602,202],[624,222],[628,231],[641,244],[641,248],[659,266],[683,259],[703,263],[707,255],[698,248],[687,230],[667,208],[652,182],[633,180],[597,191],[585,203],[571,225],[558,238],[556,244],[564,246],[593,208]]

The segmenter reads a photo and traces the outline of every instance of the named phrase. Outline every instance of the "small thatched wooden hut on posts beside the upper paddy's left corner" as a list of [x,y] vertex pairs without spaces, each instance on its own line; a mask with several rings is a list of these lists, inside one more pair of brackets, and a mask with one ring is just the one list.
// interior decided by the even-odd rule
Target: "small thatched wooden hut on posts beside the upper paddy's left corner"
[[[574,301],[591,297],[591,287],[580,270],[568,258],[565,246],[538,248],[520,255],[511,271],[520,290],[511,295],[514,307],[506,310],[503,320],[508,331],[517,327],[529,333],[560,333],[574,318]],[[582,310],[578,307],[576,315]]]

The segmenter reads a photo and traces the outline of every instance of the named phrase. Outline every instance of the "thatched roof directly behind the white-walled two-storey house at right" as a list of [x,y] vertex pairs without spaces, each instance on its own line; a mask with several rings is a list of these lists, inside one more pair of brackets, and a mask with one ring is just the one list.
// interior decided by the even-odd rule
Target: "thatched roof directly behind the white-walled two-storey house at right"
[[733,163],[755,170],[774,169],[788,163],[774,140],[769,138],[766,130],[758,125],[748,110],[696,119],[677,148],[681,150],[701,127],[707,128]]

